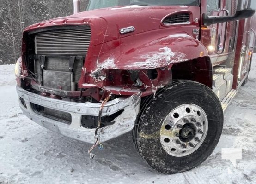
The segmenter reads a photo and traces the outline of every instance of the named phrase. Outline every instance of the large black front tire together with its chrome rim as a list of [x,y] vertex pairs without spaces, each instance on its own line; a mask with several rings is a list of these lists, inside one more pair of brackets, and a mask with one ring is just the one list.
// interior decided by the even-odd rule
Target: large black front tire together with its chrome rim
[[215,93],[195,81],[177,81],[144,100],[133,138],[153,169],[174,174],[205,161],[222,127],[223,110]]

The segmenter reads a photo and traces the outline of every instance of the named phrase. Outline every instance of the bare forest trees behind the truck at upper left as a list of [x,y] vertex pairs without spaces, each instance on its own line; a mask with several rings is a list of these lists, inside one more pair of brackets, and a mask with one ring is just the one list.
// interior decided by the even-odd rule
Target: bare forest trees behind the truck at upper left
[[[81,0],[82,10],[88,1]],[[72,13],[72,0],[0,0],[0,65],[16,63],[24,28]]]

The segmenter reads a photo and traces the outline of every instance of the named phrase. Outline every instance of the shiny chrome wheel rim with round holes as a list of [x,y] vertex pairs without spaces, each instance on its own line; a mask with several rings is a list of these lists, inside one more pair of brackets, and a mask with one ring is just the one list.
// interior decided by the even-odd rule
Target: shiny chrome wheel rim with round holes
[[208,131],[207,115],[195,104],[183,104],[165,118],[160,130],[160,142],[171,156],[187,156],[197,150]]

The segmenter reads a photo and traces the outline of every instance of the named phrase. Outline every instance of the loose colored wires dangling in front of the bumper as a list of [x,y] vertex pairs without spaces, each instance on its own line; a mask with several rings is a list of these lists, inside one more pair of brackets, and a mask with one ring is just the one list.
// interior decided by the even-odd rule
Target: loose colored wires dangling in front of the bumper
[[94,158],[95,154],[92,154],[91,151],[98,146],[99,144],[99,149],[103,149],[103,145],[100,143],[100,134],[98,134],[98,130],[101,126],[101,116],[102,116],[102,109],[104,107],[104,105],[108,102],[108,100],[110,99],[111,95],[108,96],[107,98],[105,98],[103,100],[103,102],[101,103],[100,109],[99,109],[99,115],[98,115],[98,127],[96,128],[95,132],[94,132],[94,138],[96,139],[95,143],[93,144],[93,146],[90,148],[90,150],[88,150],[88,153],[90,155],[90,161],[91,159]]

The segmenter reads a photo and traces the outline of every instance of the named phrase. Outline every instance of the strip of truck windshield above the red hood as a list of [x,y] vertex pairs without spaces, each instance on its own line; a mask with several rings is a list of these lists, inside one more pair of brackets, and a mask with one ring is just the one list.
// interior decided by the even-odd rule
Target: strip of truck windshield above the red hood
[[90,0],[87,10],[128,5],[184,5],[198,6],[199,0]]

